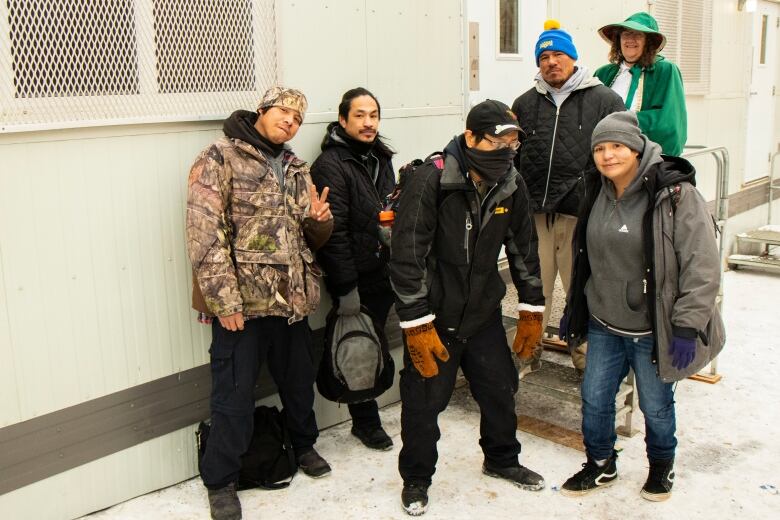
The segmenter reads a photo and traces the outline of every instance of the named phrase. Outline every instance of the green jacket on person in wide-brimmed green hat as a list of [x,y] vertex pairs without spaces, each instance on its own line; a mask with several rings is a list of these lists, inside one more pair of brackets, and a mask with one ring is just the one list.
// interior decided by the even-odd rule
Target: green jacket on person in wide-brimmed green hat
[[[609,63],[599,67],[594,76],[611,87],[619,71],[619,64]],[[639,65],[634,65],[631,70],[633,79],[628,90],[630,102],[639,83],[640,75],[637,72],[644,75],[642,105],[636,114],[639,128],[651,141],[661,145],[665,155],[680,155],[688,138],[688,114],[680,69],[660,55],[644,71]]]

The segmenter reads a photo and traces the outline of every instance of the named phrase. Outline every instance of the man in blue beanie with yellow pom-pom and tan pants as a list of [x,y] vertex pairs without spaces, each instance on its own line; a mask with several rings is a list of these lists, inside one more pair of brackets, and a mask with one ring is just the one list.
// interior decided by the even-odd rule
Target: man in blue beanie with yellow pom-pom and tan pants
[[[588,70],[577,65],[577,48],[557,20],[547,20],[534,47],[539,74],[536,85],[517,98],[512,111],[528,138],[515,156],[515,166],[528,187],[539,238],[539,264],[546,329],[555,279],[560,272],[568,291],[571,242],[577,209],[588,175],[598,175],[590,149],[596,123],[611,112],[625,110],[621,98]],[[579,373],[585,369],[585,347],[572,352]],[[542,349],[520,355],[521,374],[541,368]]]

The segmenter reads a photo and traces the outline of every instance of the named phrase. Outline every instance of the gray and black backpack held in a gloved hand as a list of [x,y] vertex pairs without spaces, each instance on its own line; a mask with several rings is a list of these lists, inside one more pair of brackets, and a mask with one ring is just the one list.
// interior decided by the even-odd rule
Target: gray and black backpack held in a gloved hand
[[331,309],[317,373],[320,394],[337,403],[369,401],[393,386],[394,376],[382,324],[365,307],[357,316],[339,316]]

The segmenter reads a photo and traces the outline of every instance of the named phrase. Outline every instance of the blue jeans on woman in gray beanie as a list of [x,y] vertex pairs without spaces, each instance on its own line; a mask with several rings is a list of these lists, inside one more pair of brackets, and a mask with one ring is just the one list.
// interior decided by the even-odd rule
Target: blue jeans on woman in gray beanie
[[608,459],[615,446],[615,397],[633,368],[639,408],[645,416],[645,445],[651,459],[674,457],[677,446],[674,387],[663,383],[652,362],[653,338],[624,338],[600,323],[588,324],[588,353],[582,381],[582,436],[588,455]]

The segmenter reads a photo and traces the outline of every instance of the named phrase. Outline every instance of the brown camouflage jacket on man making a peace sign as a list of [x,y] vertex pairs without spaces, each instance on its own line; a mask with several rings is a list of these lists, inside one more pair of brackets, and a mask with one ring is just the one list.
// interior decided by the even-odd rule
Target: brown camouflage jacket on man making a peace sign
[[303,234],[308,165],[285,150],[285,190],[265,156],[223,137],[189,175],[187,251],[208,310],[216,316],[298,321],[320,300],[321,271]]

